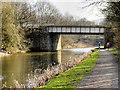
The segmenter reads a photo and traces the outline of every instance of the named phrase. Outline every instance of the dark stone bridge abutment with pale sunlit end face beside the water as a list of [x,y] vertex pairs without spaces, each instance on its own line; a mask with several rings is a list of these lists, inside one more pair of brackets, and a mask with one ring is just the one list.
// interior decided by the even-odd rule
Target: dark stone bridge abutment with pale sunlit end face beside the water
[[45,29],[36,29],[28,35],[32,42],[31,51],[61,50],[61,35],[50,34]]

